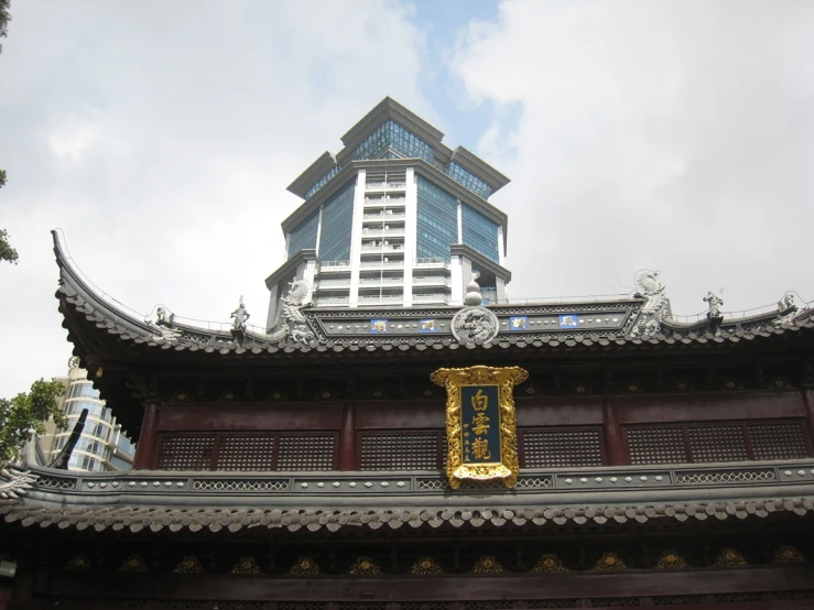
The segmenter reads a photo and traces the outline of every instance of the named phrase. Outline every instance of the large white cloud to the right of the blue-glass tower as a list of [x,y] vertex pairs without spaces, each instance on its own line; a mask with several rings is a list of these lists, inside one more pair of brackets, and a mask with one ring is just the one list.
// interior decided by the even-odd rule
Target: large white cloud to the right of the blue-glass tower
[[[506,0],[452,69],[498,111],[512,296],[661,269],[677,313],[814,298],[814,6]],[[495,156],[491,156],[493,154]]]

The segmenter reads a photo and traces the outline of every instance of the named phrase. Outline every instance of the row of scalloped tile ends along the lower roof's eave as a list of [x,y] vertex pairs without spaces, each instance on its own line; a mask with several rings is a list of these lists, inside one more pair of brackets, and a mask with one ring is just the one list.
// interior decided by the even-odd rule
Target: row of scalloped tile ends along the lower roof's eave
[[208,530],[237,532],[242,529],[305,529],[311,532],[343,527],[378,530],[452,527],[502,527],[584,525],[606,523],[683,522],[688,520],[745,520],[767,518],[772,513],[804,516],[814,511],[811,498],[778,498],[757,501],[654,503],[615,506],[511,506],[493,509],[479,504],[451,508],[381,509],[226,509],[167,506],[44,506],[37,504],[0,505],[7,524],[22,527],[56,527],[97,532],[128,530],[140,532],[167,530],[197,532]]

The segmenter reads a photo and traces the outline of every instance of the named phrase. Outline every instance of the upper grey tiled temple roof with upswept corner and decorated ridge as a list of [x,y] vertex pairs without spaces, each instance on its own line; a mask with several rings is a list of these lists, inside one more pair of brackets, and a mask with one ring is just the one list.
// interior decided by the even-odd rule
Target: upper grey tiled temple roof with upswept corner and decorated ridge
[[[300,344],[291,338],[274,340],[269,335],[247,331],[236,338],[229,333],[213,331],[195,326],[174,324],[171,329],[160,327],[131,314],[116,308],[105,301],[84,281],[80,273],[69,262],[64,247],[54,231],[54,250],[61,271],[57,297],[61,311],[65,316],[65,326],[73,331],[77,324],[101,333],[122,344],[145,346],[153,350],[172,350],[175,352],[202,352],[219,355],[248,355],[262,357],[267,355],[323,353],[323,352],[369,352],[400,351],[422,352],[437,351],[478,351],[514,350],[527,348],[536,351],[553,352],[569,348],[590,348],[591,351],[619,349],[648,349],[651,346],[704,346],[735,345],[742,341],[771,340],[786,334],[808,331],[814,328],[814,312],[804,309],[793,317],[788,317],[782,325],[775,324],[781,313],[770,313],[741,319],[725,319],[717,333],[713,333],[706,320],[686,325],[665,322],[659,333],[649,337],[637,337],[631,333],[640,315],[643,299],[625,298],[598,303],[565,303],[556,305],[496,305],[491,306],[502,328],[491,341],[482,345],[460,344],[449,331],[449,323],[458,307],[435,307],[432,309],[326,309],[312,308],[305,311],[308,326],[314,333],[315,341]],[[547,326],[549,320],[561,314],[575,314],[587,318],[584,328],[560,329]],[[528,330],[522,333],[509,330],[512,317],[525,316],[531,322]],[[608,316],[614,316],[612,318]],[[446,331],[420,334],[417,322],[432,317]],[[371,319],[388,318],[392,326],[405,328],[393,329],[387,336],[371,335],[368,330]],[[611,322],[612,320],[612,322]],[[583,320],[580,320],[583,322]],[[343,324],[345,325],[343,327]],[[536,328],[533,325],[536,324]],[[343,329],[341,331],[336,328]],[[355,328],[352,328],[355,327]],[[414,327],[415,330],[411,330]],[[76,342],[76,337],[69,337]],[[82,353],[80,353],[82,356]]]

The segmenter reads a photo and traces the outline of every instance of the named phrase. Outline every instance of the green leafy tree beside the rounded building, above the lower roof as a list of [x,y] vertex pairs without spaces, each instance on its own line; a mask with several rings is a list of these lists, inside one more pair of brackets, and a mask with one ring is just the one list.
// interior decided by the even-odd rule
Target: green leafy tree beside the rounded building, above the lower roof
[[[1,0],[0,0],[1,1]],[[65,394],[65,385],[41,379],[31,384],[31,392],[11,400],[0,399],[0,466],[20,457],[23,444],[31,431],[42,434],[45,422],[54,418],[57,427],[67,426],[57,399]]]

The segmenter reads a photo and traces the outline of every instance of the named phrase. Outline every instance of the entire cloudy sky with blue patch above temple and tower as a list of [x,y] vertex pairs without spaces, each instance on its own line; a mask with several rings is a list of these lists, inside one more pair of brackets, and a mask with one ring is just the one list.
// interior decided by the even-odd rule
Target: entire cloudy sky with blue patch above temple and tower
[[252,322],[285,190],[387,95],[512,182],[511,297],[814,299],[814,2],[12,0],[0,396],[65,374],[48,231],[146,314]]

